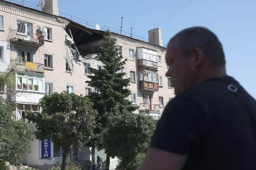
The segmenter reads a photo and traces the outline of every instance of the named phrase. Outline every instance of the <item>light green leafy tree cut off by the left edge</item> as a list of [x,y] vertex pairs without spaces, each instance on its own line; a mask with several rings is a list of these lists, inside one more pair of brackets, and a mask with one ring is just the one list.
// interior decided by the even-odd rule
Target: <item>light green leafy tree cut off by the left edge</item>
[[12,119],[11,111],[12,106],[0,96],[0,169],[6,162],[20,166],[31,152],[32,127]]

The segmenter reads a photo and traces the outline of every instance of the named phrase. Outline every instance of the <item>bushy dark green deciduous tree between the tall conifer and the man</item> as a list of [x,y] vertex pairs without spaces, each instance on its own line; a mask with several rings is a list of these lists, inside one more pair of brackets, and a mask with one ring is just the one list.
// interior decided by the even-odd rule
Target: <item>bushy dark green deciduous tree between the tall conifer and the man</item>
[[156,120],[150,115],[125,113],[111,114],[107,122],[104,147],[111,157],[119,159],[119,168],[125,170],[139,153],[148,150]]

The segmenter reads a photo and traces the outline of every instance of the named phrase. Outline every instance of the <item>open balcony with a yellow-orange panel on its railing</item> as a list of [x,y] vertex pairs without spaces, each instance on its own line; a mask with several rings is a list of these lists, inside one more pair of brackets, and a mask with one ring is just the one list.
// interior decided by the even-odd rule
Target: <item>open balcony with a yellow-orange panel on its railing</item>
[[44,74],[44,64],[33,63],[29,61],[12,60],[10,62],[10,70],[37,72]]

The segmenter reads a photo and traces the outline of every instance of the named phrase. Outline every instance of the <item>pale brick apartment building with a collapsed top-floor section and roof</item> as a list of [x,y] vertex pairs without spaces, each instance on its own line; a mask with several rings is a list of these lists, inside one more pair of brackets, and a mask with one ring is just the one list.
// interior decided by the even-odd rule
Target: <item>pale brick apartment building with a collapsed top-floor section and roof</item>
[[[0,0],[0,72],[13,72],[15,87],[0,90],[6,100],[16,106],[13,116],[26,121],[25,111],[41,111],[38,104],[45,94],[67,91],[87,96],[97,92],[85,82],[91,75],[90,68],[104,69],[95,59],[102,44],[103,30],[91,29],[59,16],[58,0],[44,0],[41,10]],[[149,42],[111,33],[124,58],[125,78],[130,78],[129,100],[143,114],[147,109],[159,119],[166,104],[174,98],[170,78],[165,76],[166,49],[162,46],[162,30],[148,31]],[[42,146],[48,147],[44,154]],[[62,148],[51,141],[34,140],[32,152],[24,164],[48,169],[62,160]],[[92,167],[92,157],[106,155],[102,151],[91,154],[89,147],[73,146],[69,160]],[[112,159],[110,168],[117,160]]]

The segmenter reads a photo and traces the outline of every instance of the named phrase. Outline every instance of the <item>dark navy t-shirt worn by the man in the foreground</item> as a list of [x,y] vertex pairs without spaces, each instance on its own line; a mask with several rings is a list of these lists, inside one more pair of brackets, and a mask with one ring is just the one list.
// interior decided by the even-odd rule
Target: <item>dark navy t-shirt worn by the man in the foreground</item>
[[256,101],[236,80],[214,78],[168,103],[150,147],[188,155],[184,170],[256,170],[255,120],[223,80],[237,84],[255,117]]

